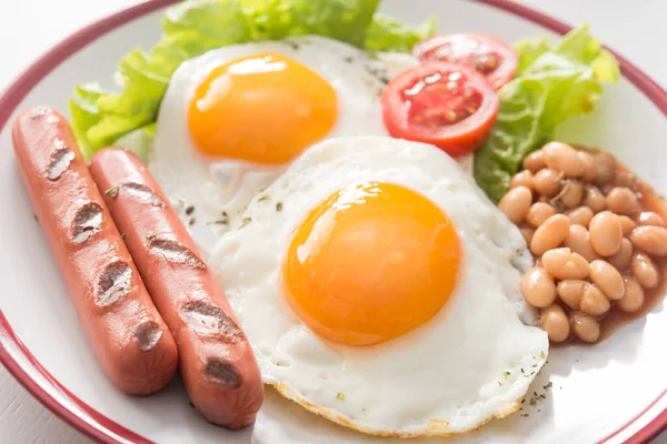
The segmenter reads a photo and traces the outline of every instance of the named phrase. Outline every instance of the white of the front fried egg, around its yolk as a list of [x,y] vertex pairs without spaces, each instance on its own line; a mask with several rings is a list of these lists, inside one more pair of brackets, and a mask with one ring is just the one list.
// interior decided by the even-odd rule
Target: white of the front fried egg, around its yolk
[[[334,192],[397,183],[436,203],[456,226],[455,292],[426,324],[374,346],[312,333],[281,294],[295,230]],[[256,352],[263,380],[288,398],[359,431],[392,436],[462,433],[520,405],[545,363],[547,334],[519,291],[531,256],[518,229],[435,147],[384,137],[316,144],[253,199],[210,264]]]

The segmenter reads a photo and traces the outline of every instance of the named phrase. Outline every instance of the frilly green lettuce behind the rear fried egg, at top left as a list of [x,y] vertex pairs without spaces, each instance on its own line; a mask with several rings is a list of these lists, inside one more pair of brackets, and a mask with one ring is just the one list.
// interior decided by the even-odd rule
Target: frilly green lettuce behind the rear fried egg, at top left
[[[162,36],[150,50],[135,49],[118,63],[121,91],[77,87],[72,128],[84,155],[132,143],[146,155],[150,129],[173,71],[211,49],[289,36],[319,34],[370,51],[410,51],[435,31],[435,21],[411,29],[376,13],[380,0],[187,0],[167,9]],[[135,133],[137,132],[137,133]],[[132,137],[123,138],[126,134]],[[129,142],[128,142],[129,141]],[[143,143],[145,147],[140,144]]]

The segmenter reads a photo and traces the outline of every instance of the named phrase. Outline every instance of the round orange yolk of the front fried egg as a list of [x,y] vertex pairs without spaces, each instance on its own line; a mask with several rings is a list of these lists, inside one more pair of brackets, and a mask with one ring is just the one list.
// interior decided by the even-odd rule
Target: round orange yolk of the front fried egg
[[434,202],[405,186],[366,182],[331,195],[297,229],[283,293],[320,336],[377,344],[438,313],[460,256],[454,224]]

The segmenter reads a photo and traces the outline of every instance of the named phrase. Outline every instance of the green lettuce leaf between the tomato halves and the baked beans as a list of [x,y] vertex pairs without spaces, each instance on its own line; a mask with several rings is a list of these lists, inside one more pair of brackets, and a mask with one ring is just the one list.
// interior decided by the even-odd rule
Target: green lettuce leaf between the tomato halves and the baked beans
[[573,115],[593,112],[603,82],[616,82],[618,62],[584,26],[559,43],[527,39],[515,47],[519,68],[498,92],[500,110],[486,143],[475,152],[475,180],[498,202],[524,158],[552,139]]

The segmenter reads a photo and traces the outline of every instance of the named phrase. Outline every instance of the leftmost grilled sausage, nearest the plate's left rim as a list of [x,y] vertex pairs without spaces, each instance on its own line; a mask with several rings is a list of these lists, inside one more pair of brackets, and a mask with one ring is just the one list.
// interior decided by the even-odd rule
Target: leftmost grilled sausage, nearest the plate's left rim
[[162,389],[178,366],[153,305],[66,121],[37,107],[17,118],[13,147],[32,206],[100,366],[120,390]]

